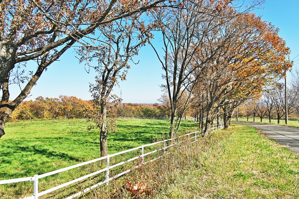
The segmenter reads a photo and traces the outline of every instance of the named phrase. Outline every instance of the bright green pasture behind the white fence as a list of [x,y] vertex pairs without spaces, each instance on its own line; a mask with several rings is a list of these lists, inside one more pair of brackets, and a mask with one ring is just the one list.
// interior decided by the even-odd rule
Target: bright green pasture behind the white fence
[[[43,174],[100,157],[99,129],[87,131],[87,125],[86,120],[79,119],[7,123],[6,134],[0,139],[0,179]],[[167,137],[169,125],[168,120],[120,119],[117,131],[108,134],[108,154],[152,143],[153,140],[162,140],[164,134]],[[195,122],[184,121],[181,131],[193,132],[196,125],[198,124]],[[72,169],[41,179],[40,189],[94,172],[102,168],[103,164],[98,163],[91,167],[93,168],[86,166]],[[0,198],[4,195],[7,198],[10,198],[8,195],[19,198],[31,185],[29,182],[16,183],[16,188],[13,189],[4,185],[2,190],[0,189]]]

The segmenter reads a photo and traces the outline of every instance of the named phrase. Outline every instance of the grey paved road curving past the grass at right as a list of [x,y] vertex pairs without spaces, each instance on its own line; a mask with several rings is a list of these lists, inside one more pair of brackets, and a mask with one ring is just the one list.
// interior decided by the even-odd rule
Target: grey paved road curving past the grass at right
[[266,134],[266,137],[275,140],[281,145],[289,146],[289,150],[299,153],[299,128],[253,122],[232,121],[232,123],[238,123],[257,128],[263,134]]

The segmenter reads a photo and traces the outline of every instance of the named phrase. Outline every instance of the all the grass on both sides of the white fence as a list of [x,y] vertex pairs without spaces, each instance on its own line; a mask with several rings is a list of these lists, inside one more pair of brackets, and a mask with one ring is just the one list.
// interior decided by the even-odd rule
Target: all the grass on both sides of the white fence
[[[182,130],[194,131],[196,125],[186,121]],[[109,134],[108,151],[112,154],[161,140],[168,126],[168,121],[164,120],[119,120],[117,133]],[[98,129],[87,131],[86,127],[85,120],[8,123],[7,134],[0,139],[2,179],[42,174],[99,157]],[[228,130],[216,131],[188,146],[169,157],[144,165],[142,173],[129,173],[111,182],[109,189],[100,187],[83,198],[130,198],[129,193],[121,191],[121,186],[127,186],[126,179],[134,185],[150,182],[149,186],[155,188],[155,198],[158,199],[299,197],[299,155],[262,137],[254,128],[233,124]],[[98,162],[46,177],[39,181],[39,190],[104,166],[106,162]],[[125,167],[128,168],[132,167]],[[65,198],[102,181],[105,174],[41,198]],[[28,197],[32,191],[32,182],[4,185],[0,186],[0,198]]]

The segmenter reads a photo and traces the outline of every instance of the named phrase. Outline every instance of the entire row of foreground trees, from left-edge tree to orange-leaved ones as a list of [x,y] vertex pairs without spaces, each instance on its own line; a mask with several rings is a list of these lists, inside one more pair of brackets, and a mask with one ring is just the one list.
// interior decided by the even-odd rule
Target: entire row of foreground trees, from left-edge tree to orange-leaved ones
[[[90,85],[94,111],[89,117],[101,129],[103,156],[107,154],[107,122],[115,126],[114,110],[121,101],[111,91],[126,79],[129,64],[147,43],[164,70],[166,83],[161,88],[166,93],[164,107],[170,110],[169,137],[179,130],[187,110],[197,115],[202,128],[205,120],[205,135],[221,113],[228,128],[237,106],[292,66],[278,29],[251,13],[262,3],[0,1],[0,136],[7,117],[28,96],[42,72],[74,45],[79,62],[98,74]],[[142,16],[143,12],[147,15]],[[161,35],[162,45],[152,42],[154,32]],[[36,61],[37,69],[26,73],[23,66],[30,60]],[[9,101],[11,83],[25,86]]]

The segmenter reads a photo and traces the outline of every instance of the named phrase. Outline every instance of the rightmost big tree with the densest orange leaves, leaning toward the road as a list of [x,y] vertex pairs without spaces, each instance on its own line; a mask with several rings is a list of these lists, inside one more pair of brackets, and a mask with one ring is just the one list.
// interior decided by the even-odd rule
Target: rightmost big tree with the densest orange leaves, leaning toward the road
[[228,128],[231,114],[240,103],[260,95],[263,88],[277,82],[292,67],[290,50],[278,36],[279,29],[254,14],[246,15],[239,21],[243,24],[241,27],[248,25],[244,33],[248,41],[235,43],[243,47],[237,50],[240,52],[237,60],[228,65],[235,75],[228,96],[222,98],[222,102],[226,100],[222,106],[226,112],[225,128]]

